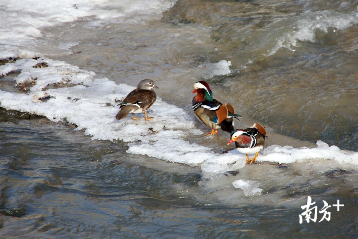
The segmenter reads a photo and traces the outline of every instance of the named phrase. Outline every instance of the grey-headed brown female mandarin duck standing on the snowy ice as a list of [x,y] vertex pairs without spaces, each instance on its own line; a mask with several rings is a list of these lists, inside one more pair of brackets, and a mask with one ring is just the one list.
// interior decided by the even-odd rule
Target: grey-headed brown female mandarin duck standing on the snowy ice
[[147,110],[154,104],[156,94],[153,88],[159,89],[154,81],[150,79],[141,80],[137,89],[132,90],[123,100],[120,105],[120,111],[116,115],[116,119],[120,120],[132,113],[132,119],[139,119],[134,117],[134,113],[142,113],[144,111],[145,120],[151,120],[153,117],[148,118]]

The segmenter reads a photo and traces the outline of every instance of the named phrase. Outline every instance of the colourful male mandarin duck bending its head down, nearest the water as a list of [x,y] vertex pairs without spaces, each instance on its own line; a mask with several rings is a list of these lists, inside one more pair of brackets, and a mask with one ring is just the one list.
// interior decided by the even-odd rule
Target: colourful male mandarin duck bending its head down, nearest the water
[[255,154],[255,157],[250,159],[256,163],[258,152],[263,149],[265,145],[266,130],[259,123],[255,123],[248,129],[236,129],[231,132],[231,139],[227,145],[235,141],[235,147],[240,153],[246,154],[246,164],[248,164],[247,154]]

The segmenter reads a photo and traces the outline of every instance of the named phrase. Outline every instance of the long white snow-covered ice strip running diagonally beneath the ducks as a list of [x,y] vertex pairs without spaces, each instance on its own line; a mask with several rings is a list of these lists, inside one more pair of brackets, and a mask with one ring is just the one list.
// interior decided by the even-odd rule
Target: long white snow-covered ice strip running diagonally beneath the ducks
[[[43,62],[48,67],[33,67]],[[160,97],[149,111],[153,120],[132,120],[130,117],[116,120],[119,110],[116,100],[124,99],[134,86],[116,85],[107,78],[96,78],[94,72],[49,58],[20,59],[0,66],[1,75],[15,70],[20,71],[15,78],[17,83],[33,80],[35,85],[27,94],[0,91],[1,107],[43,115],[55,122],[66,119],[77,125],[76,130],[83,129],[84,135],[92,135],[92,139],[127,142],[128,153],[189,165],[202,163],[204,178],[245,166],[245,155],[235,149],[219,154],[212,148],[184,140],[188,134],[203,134],[195,128],[194,119],[189,115],[192,112],[168,104]],[[50,99],[37,100],[44,96]],[[358,165],[358,152],[329,147],[322,141],[317,145],[317,148],[271,145],[257,159],[286,164],[304,159],[327,159],[339,162],[342,167]]]

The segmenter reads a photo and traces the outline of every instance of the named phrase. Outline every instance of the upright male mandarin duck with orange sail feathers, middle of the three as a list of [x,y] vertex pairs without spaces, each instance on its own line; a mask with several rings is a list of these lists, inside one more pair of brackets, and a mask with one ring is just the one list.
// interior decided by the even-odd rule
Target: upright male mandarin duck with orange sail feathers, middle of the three
[[223,105],[213,99],[213,92],[205,81],[195,82],[194,91],[192,93],[195,92],[197,95],[193,98],[194,114],[206,126],[212,128],[211,133],[207,134],[217,134],[219,128],[229,133],[232,132],[232,130],[234,130],[232,118],[241,118],[241,116],[234,114],[234,108],[230,103]]

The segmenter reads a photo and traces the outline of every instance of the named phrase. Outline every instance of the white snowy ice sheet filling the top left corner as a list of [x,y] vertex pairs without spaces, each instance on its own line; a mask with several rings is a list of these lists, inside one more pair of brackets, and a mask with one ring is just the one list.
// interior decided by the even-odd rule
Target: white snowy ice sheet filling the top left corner
[[[21,51],[33,51],[36,38],[43,36],[41,30],[44,27],[72,22],[86,16],[95,16],[101,21],[116,19],[126,23],[143,23],[145,20],[159,18],[174,2],[175,0],[84,0],[77,3],[72,0],[4,0],[0,3],[0,22],[6,23],[0,26],[0,59],[18,57]],[[60,49],[67,48],[63,44],[59,44]],[[41,56],[36,52],[32,55]]]

